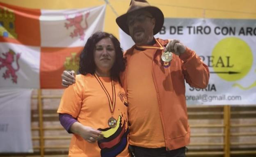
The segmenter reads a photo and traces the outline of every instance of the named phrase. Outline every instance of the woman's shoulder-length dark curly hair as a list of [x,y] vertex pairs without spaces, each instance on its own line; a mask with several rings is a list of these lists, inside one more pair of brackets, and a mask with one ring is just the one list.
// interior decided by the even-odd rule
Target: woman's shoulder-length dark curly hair
[[116,37],[114,37],[114,35],[101,31],[94,33],[93,35],[91,35],[91,37],[88,38],[84,49],[80,53],[79,73],[83,75],[86,75],[87,73],[93,75],[95,73],[96,65],[94,62],[93,52],[95,51],[96,44],[104,38],[110,38],[114,44],[116,59],[114,65],[111,68],[111,77],[113,77],[114,80],[119,80],[120,72],[124,71],[125,69],[123,49],[121,49],[120,42]]

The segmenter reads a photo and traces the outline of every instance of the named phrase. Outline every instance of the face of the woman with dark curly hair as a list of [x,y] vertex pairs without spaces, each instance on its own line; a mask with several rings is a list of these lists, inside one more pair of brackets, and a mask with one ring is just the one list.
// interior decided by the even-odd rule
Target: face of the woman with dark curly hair
[[103,38],[95,45],[94,62],[96,71],[109,73],[116,59],[114,44],[110,38]]

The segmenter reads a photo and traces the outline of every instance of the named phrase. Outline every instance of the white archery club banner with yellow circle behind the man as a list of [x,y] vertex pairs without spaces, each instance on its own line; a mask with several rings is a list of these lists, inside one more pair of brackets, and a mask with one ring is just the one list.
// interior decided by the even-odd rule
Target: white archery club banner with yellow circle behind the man
[[[130,36],[119,32],[130,48]],[[165,18],[155,38],[181,40],[209,66],[207,88],[186,84],[187,104],[256,104],[256,20]]]

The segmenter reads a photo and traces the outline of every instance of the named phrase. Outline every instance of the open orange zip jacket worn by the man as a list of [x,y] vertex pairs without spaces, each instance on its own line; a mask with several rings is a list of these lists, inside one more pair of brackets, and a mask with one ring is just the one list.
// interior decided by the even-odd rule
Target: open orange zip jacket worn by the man
[[[163,46],[169,42],[169,40],[159,38],[157,40]],[[133,49],[135,49],[135,45],[124,53],[127,64],[129,64]],[[161,55],[161,50],[155,51],[151,68],[158,97],[165,145],[167,150],[174,150],[190,143],[185,80],[190,86],[206,88],[209,81],[209,69],[199,56],[188,48],[180,56],[173,55],[171,65],[168,68],[161,65]],[[121,82],[127,94],[126,71],[121,74]]]

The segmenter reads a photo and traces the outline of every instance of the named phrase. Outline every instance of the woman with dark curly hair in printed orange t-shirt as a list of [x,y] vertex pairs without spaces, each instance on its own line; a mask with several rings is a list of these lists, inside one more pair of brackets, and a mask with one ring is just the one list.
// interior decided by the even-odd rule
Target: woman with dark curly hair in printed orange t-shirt
[[73,133],[69,156],[128,157],[127,98],[119,74],[125,62],[112,34],[96,32],[80,54],[80,75],[65,89],[59,120]]

